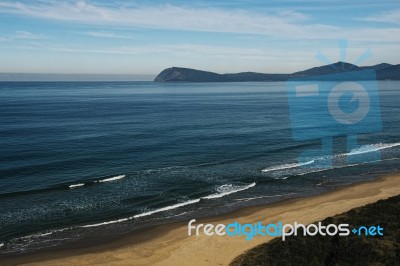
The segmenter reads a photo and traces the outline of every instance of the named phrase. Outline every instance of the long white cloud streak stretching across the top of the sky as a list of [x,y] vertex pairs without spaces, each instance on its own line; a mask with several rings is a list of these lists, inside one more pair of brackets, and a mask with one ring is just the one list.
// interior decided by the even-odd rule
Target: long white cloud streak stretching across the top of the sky
[[[156,6],[104,6],[86,1],[45,1],[36,4],[0,2],[0,13],[18,14],[48,20],[60,20],[95,25],[123,25],[155,29],[245,33],[278,38],[369,40],[371,34],[361,35],[357,27],[339,27],[313,21],[307,14],[296,11],[265,11],[263,13],[210,7]],[[398,21],[398,13],[377,16],[378,20]],[[396,17],[397,16],[397,17]],[[373,19],[371,17],[370,19]],[[361,28],[364,31],[369,28]],[[371,28],[373,31],[374,28]],[[398,28],[380,28],[374,38],[390,36],[398,41]],[[393,35],[396,34],[396,35]],[[108,32],[90,32],[93,37],[122,38]],[[355,37],[356,36],[356,37]]]

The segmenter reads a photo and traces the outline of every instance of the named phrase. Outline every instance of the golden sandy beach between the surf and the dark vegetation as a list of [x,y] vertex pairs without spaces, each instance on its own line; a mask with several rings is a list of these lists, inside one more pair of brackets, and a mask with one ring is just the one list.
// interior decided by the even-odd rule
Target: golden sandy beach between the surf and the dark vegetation
[[[258,221],[311,223],[398,195],[400,174],[342,186],[303,198],[253,206],[216,217],[197,219],[196,224],[255,223]],[[235,257],[272,237],[187,236],[187,222],[160,225],[122,236],[109,243],[80,248],[71,246],[1,259],[3,265],[227,265]]]

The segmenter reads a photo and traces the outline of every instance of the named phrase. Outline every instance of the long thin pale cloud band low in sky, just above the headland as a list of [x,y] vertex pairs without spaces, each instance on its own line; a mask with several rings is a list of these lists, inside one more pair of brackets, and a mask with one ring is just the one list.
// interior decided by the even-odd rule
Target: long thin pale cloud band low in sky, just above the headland
[[[143,46],[114,46],[108,48],[87,48],[82,46],[70,46],[61,44],[42,44],[42,45],[19,45],[18,49],[24,50],[46,50],[52,52],[61,53],[72,53],[72,54],[109,54],[109,55],[152,55],[152,56],[163,56],[165,54],[174,58],[185,58],[193,59],[223,59],[223,60],[250,60],[260,62],[274,62],[274,61],[301,61],[304,58],[314,58],[315,50],[299,50],[286,48],[242,48],[235,46],[215,46],[215,45],[200,45],[193,43],[183,44],[153,44]],[[374,50],[379,50],[379,46],[374,46]],[[385,45],[384,50],[392,53],[397,49],[397,45]],[[329,55],[333,61],[339,60],[339,54],[337,54],[337,47],[333,46],[329,49],[324,49],[324,54]],[[195,53],[193,51],[196,51]],[[349,48],[349,51],[354,56],[360,55],[365,51],[365,48]],[[352,60],[352,59],[351,59]],[[351,61],[350,60],[350,61]],[[316,61],[314,62],[314,64]]]

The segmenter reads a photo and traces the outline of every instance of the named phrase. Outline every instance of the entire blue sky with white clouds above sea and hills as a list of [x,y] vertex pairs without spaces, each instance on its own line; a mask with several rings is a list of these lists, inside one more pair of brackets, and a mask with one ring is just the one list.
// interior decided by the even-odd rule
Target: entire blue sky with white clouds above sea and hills
[[348,62],[400,63],[400,2],[0,0],[0,73],[288,73],[343,39]]

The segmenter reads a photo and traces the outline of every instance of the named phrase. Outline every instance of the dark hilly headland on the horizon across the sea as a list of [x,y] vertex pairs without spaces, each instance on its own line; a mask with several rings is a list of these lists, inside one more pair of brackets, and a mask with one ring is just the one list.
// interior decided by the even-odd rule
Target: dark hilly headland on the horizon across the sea
[[289,78],[320,76],[327,74],[352,72],[365,69],[376,71],[377,79],[400,80],[400,65],[382,63],[373,66],[358,67],[356,65],[337,62],[292,74],[263,74],[256,72],[241,72],[232,74],[218,74],[191,68],[167,68],[154,79],[155,82],[245,82],[245,81],[286,81]]

